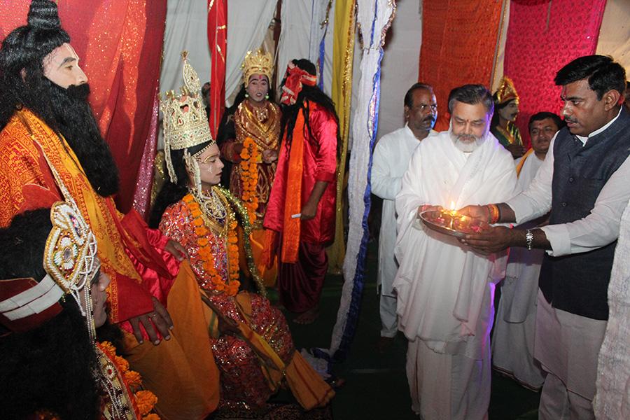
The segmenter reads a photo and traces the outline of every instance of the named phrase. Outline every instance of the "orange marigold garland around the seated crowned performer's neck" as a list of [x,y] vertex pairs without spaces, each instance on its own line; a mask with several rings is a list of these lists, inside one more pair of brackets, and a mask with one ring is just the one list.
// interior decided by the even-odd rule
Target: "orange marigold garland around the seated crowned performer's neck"
[[200,205],[192,194],[186,195],[182,200],[186,203],[186,207],[188,207],[190,214],[193,216],[193,225],[195,226],[195,235],[197,235],[197,245],[199,246],[199,256],[203,261],[204,271],[210,277],[214,289],[219,292],[227,293],[228,296],[236,295],[241,285],[239,281],[239,247],[237,244],[237,221],[234,214],[230,211],[229,204],[225,202],[225,200],[222,200],[228,214],[228,220],[225,223],[228,225],[227,251],[229,281],[226,282],[223,276],[216,271],[214,254],[212,253],[213,242],[211,238],[213,235],[204,222],[204,214]]

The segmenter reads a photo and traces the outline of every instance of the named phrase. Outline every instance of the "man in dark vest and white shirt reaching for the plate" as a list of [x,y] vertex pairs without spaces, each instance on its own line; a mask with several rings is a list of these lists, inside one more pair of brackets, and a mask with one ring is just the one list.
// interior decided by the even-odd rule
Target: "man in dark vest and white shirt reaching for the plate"
[[558,71],[567,127],[549,147],[531,186],[512,200],[461,212],[496,226],[461,239],[475,251],[510,246],[547,250],[542,262],[534,357],[547,377],[540,419],[594,419],[597,356],[608,320],[608,281],[622,212],[630,198],[630,114],[622,106],[625,71],[590,55]]

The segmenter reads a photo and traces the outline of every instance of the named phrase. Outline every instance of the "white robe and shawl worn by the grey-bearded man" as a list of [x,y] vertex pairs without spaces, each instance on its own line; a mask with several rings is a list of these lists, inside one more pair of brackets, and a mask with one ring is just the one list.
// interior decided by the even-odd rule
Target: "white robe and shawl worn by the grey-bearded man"
[[423,419],[483,419],[490,400],[489,332],[505,253],[483,256],[416,218],[423,204],[503,202],[517,190],[512,155],[487,134],[472,153],[449,132],[416,148],[396,197],[399,329],[409,339],[412,409]]

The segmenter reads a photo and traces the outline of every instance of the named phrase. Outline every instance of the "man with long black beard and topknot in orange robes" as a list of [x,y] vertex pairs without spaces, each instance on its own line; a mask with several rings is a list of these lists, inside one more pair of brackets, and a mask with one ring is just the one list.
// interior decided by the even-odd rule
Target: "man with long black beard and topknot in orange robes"
[[125,330],[125,353],[158,395],[158,411],[167,419],[203,418],[218,404],[204,323],[209,311],[188,262],[179,261],[183,248],[148,229],[136,212],[116,210],[118,172],[69,41],[56,4],[34,0],[27,25],[2,43],[0,226],[42,207],[45,195],[61,197],[52,176],[58,174],[97,238],[102,270],[111,278],[111,321]]

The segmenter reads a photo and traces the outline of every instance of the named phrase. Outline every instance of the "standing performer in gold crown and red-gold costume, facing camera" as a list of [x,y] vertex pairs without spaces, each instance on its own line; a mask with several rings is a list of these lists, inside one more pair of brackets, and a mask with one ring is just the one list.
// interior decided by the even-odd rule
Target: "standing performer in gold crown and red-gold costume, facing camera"
[[[223,159],[232,163],[230,191],[244,201],[252,219],[252,251],[260,276],[265,284],[271,285],[276,280],[275,264],[270,269],[260,265],[262,218],[276,172],[281,113],[269,101],[272,56],[262,50],[247,52],[241,68],[244,86],[232,108],[225,111],[227,116],[222,120],[219,134],[225,139],[217,143]],[[241,269],[248,272],[243,262],[241,258]]]

